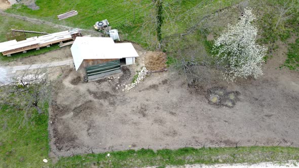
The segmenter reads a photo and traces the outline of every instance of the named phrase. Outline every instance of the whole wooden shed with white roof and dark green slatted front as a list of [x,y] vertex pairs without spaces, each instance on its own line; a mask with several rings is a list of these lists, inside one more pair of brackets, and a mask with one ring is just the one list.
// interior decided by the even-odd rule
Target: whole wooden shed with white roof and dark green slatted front
[[121,65],[139,57],[131,43],[114,43],[110,37],[77,37],[70,48],[76,70],[88,80],[121,72]]

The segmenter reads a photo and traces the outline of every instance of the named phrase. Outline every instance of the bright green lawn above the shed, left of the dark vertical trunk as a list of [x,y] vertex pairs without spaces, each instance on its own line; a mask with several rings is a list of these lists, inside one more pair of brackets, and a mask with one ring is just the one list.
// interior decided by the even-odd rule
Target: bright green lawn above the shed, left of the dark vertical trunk
[[[124,39],[144,44],[140,36],[142,18],[149,9],[151,1],[82,1],[82,0],[53,0],[36,1],[40,10],[32,11],[26,6],[13,5],[6,12],[20,14],[32,18],[50,21],[70,27],[92,29],[96,21],[107,19],[113,28],[118,28]],[[135,10],[134,10],[135,9]],[[58,20],[56,15],[71,10],[77,10],[79,14],[64,20]],[[135,14],[134,14],[135,11]]]

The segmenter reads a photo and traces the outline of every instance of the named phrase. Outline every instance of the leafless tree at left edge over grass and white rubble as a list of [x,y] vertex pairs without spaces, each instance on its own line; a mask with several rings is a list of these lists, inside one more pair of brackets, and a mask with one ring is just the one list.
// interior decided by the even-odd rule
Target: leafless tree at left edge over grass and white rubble
[[29,119],[33,109],[39,114],[45,112],[44,107],[49,102],[51,90],[52,81],[48,77],[47,68],[27,69],[16,75],[10,85],[3,86],[0,104],[24,111],[24,115],[19,118],[22,125]]

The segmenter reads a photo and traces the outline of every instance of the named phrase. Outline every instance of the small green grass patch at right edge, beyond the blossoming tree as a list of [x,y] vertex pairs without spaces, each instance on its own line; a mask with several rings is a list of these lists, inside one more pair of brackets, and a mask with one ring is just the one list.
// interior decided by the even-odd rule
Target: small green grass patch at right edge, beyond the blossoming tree
[[299,70],[299,38],[290,44],[284,66],[290,70]]

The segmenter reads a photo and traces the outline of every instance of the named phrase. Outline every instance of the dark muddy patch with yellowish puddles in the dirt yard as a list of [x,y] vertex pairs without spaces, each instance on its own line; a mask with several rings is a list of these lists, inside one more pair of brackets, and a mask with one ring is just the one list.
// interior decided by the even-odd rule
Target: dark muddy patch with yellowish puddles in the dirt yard
[[239,100],[240,92],[228,92],[223,87],[213,87],[207,92],[207,99],[210,104],[234,107]]

